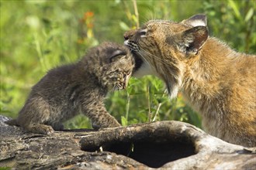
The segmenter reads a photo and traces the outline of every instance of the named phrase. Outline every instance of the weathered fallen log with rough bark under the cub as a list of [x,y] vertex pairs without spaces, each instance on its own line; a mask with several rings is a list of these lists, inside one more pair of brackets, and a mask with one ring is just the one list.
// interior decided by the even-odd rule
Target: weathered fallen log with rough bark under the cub
[[4,121],[0,116],[0,167],[256,169],[256,148],[229,144],[178,121],[50,135],[25,133]]

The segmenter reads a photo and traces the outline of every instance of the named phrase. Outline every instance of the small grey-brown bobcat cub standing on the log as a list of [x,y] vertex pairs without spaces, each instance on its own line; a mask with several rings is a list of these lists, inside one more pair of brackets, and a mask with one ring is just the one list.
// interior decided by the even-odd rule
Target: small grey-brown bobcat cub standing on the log
[[113,42],[92,48],[78,63],[50,70],[36,83],[16,120],[26,131],[50,134],[81,112],[97,128],[118,127],[103,104],[109,90],[126,88],[134,61],[129,49]]

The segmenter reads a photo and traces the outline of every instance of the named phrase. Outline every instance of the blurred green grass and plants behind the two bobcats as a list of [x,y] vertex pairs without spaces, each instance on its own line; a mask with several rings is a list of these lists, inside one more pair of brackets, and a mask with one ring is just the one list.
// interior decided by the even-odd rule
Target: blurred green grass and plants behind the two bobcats
[[[240,52],[255,53],[255,1],[47,1],[1,0],[0,114],[16,117],[30,88],[55,66],[71,63],[104,41],[123,43],[123,32],[149,19],[181,21],[208,16],[211,36]],[[106,107],[123,125],[178,120],[201,127],[200,117],[179,94],[169,100],[154,76],[132,78],[127,90],[109,93]],[[88,128],[86,117],[66,123]]]

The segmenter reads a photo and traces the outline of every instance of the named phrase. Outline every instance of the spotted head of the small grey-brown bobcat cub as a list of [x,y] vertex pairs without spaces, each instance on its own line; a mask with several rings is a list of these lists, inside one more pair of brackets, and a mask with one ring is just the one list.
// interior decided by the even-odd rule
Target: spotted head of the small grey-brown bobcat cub
[[85,56],[90,73],[109,90],[125,89],[134,67],[134,58],[126,46],[104,42]]

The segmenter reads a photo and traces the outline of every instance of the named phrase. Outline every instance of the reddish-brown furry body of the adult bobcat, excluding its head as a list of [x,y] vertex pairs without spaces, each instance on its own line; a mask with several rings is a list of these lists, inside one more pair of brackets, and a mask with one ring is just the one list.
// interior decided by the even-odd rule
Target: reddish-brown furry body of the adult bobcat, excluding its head
[[206,131],[231,143],[255,146],[256,57],[209,38],[185,70],[182,93],[202,114]]

